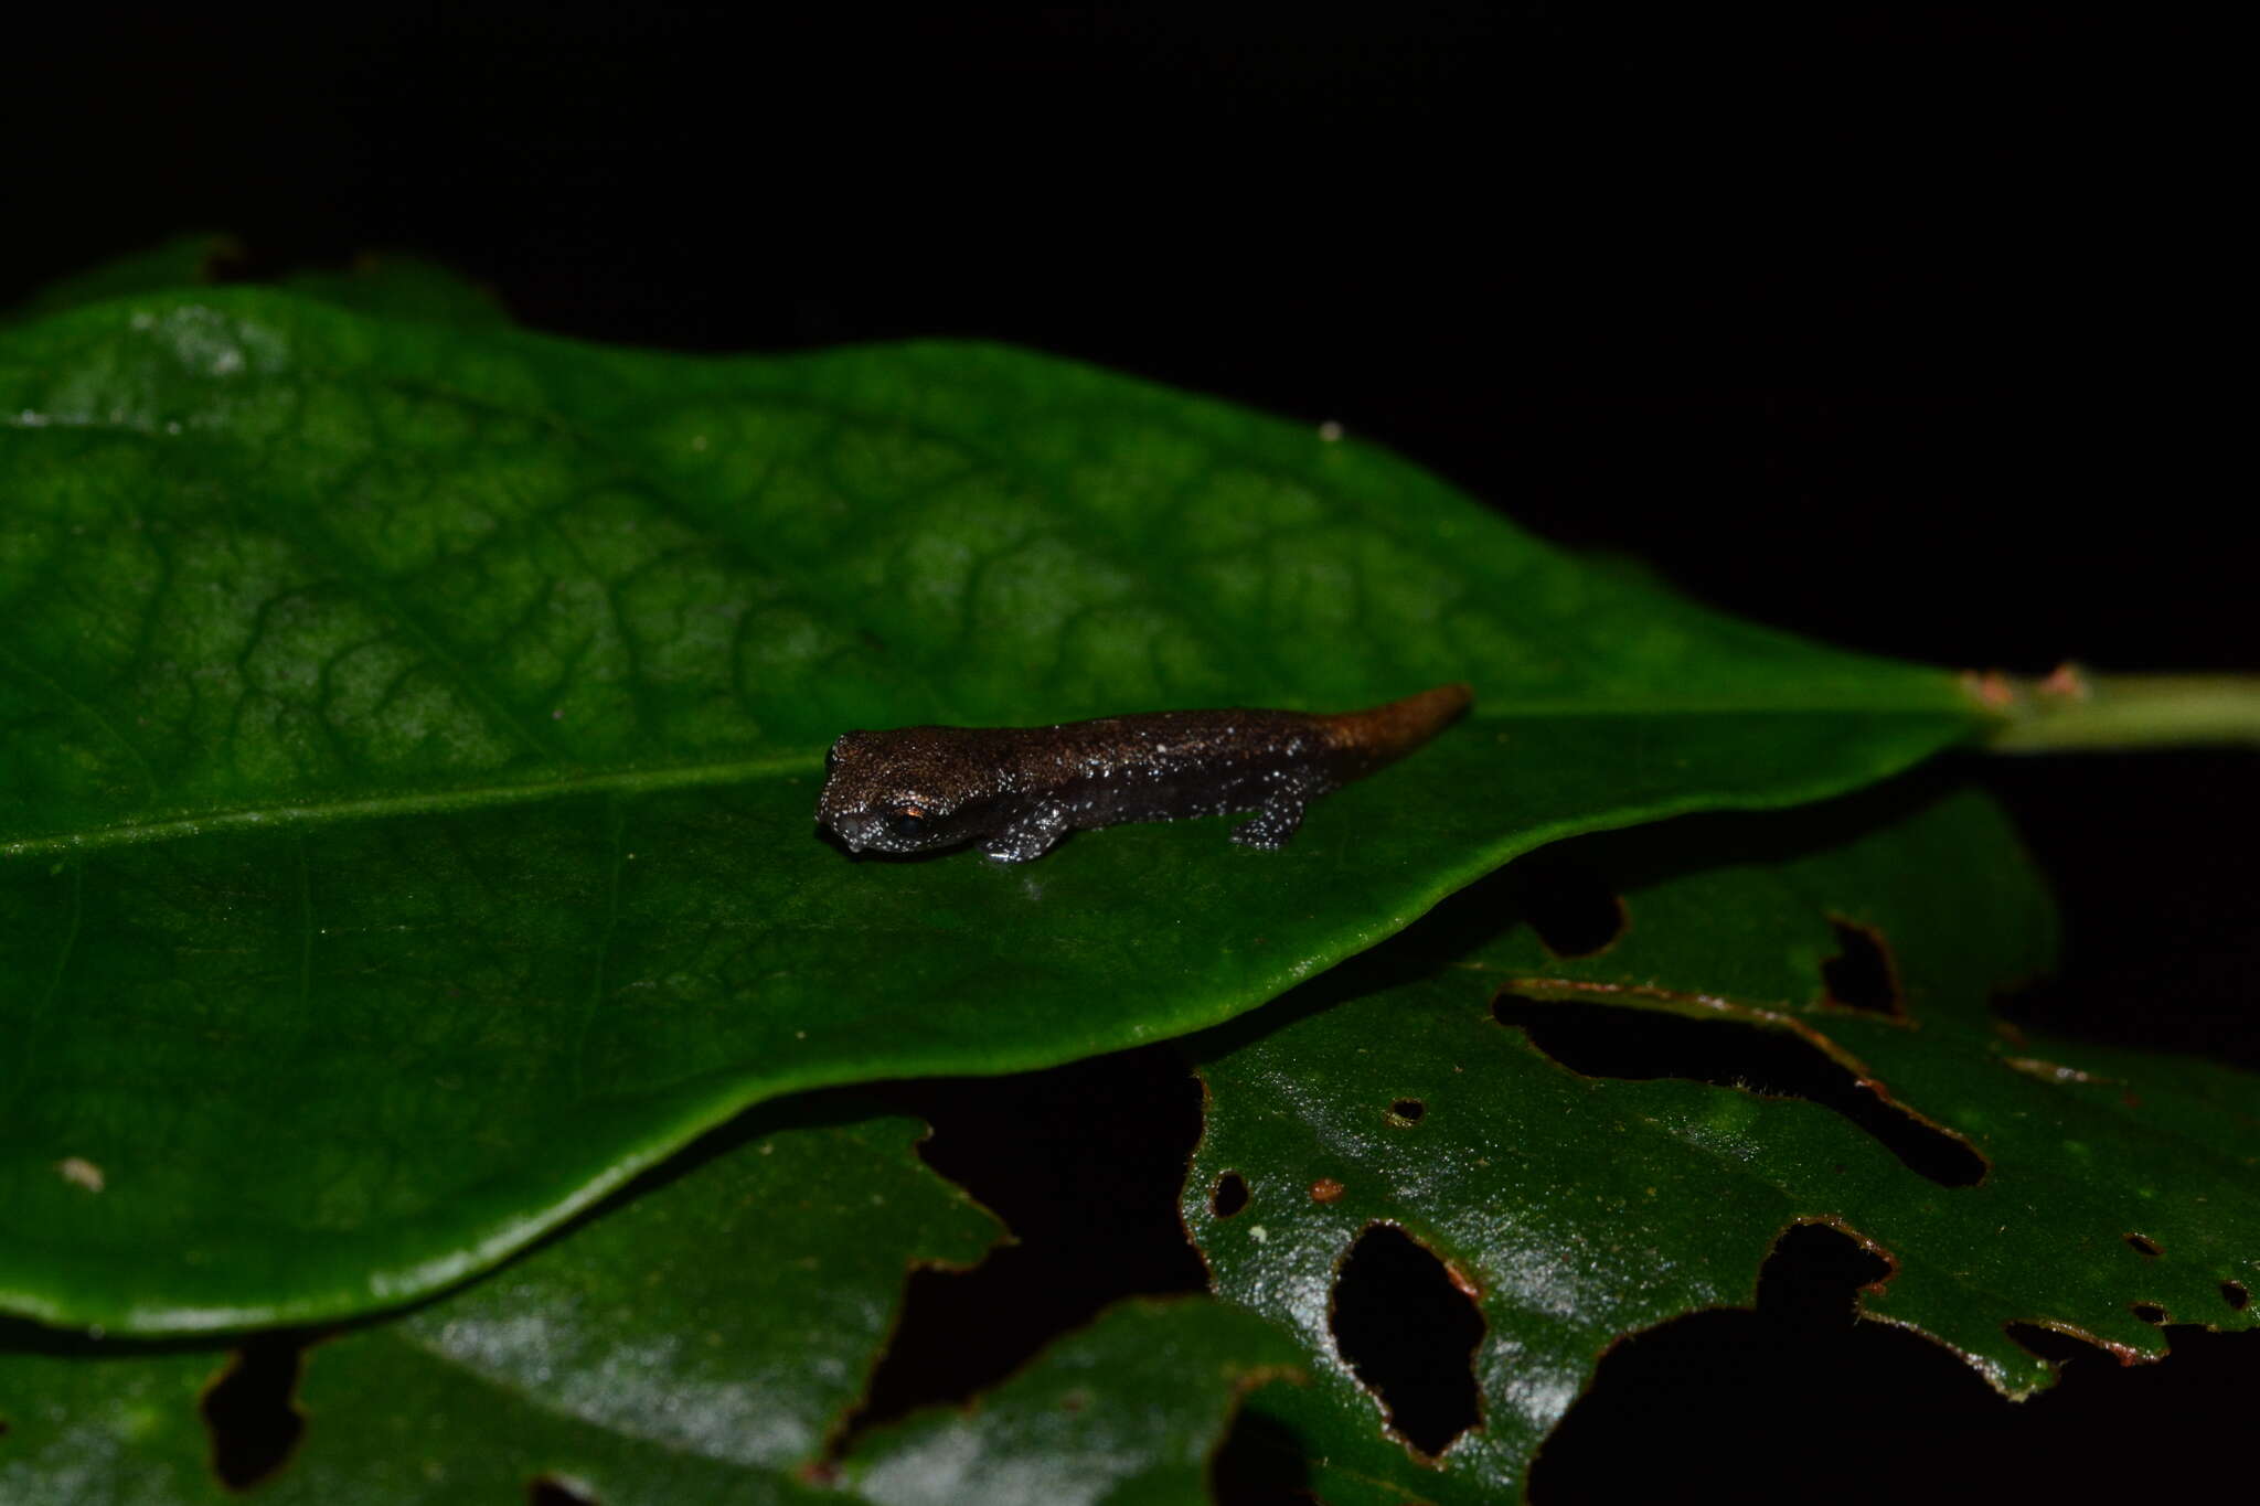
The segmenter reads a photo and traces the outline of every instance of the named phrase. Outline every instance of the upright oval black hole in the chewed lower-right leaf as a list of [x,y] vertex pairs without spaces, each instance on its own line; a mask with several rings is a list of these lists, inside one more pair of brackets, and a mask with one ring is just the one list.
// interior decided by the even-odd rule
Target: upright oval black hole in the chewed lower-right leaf
[[1390,1427],[1422,1454],[1435,1459],[1483,1422],[1483,1312],[1406,1231],[1374,1224],[1358,1235],[1333,1280],[1329,1325]]

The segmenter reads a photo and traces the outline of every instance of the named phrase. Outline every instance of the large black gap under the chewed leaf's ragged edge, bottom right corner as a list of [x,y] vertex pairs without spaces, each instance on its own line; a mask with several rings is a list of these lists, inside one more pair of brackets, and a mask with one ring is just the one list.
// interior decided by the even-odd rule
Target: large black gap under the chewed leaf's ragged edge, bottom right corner
[[[1792,1231],[1761,1271],[1756,1312],[1693,1312],[1618,1341],[1546,1441],[1530,1499],[2140,1501],[2158,1497],[2165,1438],[2204,1454],[2244,1436],[2260,1334],[2176,1330],[2163,1364],[2129,1366],[2011,1325],[2043,1357],[2081,1359],[2009,1402],[1944,1343],[1846,1321],[1864,1264],[1849,1242]],[[2142,1447],[2095,1447],[2133,1427]]]

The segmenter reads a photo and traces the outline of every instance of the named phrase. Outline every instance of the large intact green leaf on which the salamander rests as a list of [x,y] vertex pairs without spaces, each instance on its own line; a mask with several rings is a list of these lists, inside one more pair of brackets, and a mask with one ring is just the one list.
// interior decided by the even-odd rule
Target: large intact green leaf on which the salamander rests
[[[255,287],[0,332],[0,1305],[115,1332],[402,1303],[762,1097],[1216,1025],[1539,842],[1982,725],[1110,373]],[[811,824],[847,727],[1444,680],[1281,853]]]

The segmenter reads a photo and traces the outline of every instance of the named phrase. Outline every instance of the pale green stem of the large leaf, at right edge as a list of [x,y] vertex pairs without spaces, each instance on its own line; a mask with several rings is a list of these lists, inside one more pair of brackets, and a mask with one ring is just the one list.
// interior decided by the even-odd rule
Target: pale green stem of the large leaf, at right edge
[[2260,745],[2260,675],[2097,675],[2063,664],[2041,680],[1971,671],[1964,686],[1998,718],[1993,752]]

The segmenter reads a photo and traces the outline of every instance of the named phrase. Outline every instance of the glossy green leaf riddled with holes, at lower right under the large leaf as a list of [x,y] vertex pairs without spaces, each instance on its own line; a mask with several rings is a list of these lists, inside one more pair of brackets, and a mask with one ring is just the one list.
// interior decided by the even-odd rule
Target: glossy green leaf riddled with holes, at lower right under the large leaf
[[[1516,894],[1544,912],[1580,872],[1620,896],[1623,928],[1559,957]],[[1690,817],[1573,842],[1516,881],[1200,1041],[1209,1120],[1184,1219],[1218,1292],[1302,1337],[1315,1384],[1261,1409],[1320,1461],[1327,1499],[1519,1490],[1618,1337],[1749,1305],[1801,1222],[1887,1258],[1867,1316],[1935,1337],[2009,1395],[2050,1371],[2005,1323],[2127,1359],[2163,1352],[2133,1305],[2255,1325],[2224,1282],[2260,1271],[2260,1084],[1991,1021],[1989,996],[2041,971],[2054,939],[1980,795]],[[1858,946],[1840,926],[1880,937],[1896,1014],[1828,998],[1831,960]],[[1715,1057],[1724,1086],[1654,1077],[1690,1054]],[[1835,1077],[1842,1109],[1765,1095],[1806,1077]],[[1220,1217],[1227,1174],[1248,1201]],[[1331,1330],[1338,1271],[1376,1224],[1444,1262],[1483,1319],[1467,1361],[1480,1425],[1442,1468],[1385,1431]]]

